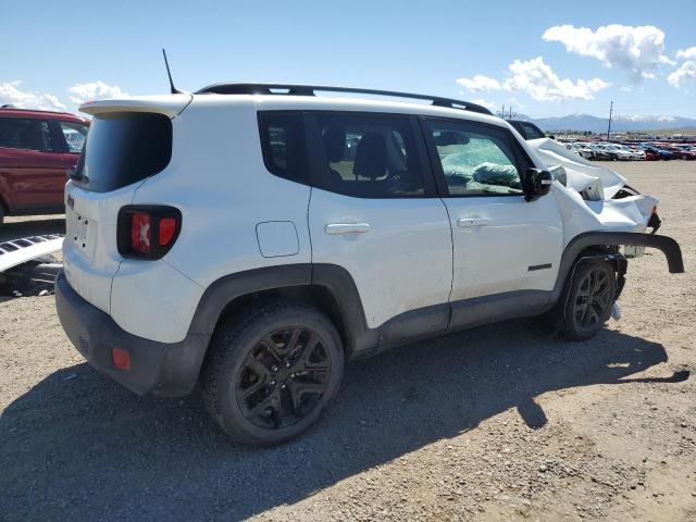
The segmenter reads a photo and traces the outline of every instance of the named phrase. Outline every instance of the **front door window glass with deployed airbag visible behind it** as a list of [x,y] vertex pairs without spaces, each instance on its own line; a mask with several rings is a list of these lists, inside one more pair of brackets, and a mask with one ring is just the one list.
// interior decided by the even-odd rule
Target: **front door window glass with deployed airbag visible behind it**
[[471,122],[428,121],[449,196],[521,195],[508,134]]

